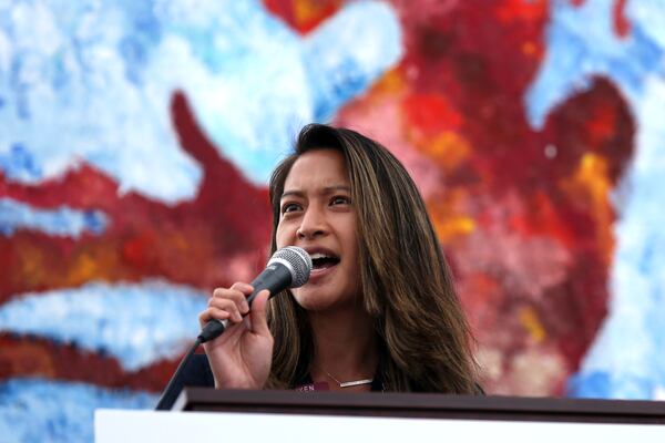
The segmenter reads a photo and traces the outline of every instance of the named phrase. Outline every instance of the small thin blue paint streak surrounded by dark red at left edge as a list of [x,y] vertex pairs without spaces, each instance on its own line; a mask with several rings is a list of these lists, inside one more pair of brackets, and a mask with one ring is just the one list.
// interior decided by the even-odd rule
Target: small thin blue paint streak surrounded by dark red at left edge
[[52,236],[79,238],[88,231],[103,234],[108,217],[101,210],[75,210],[69,206],[37,209],[10,198],[0,198],[0,234],[11,236],[19,229]]

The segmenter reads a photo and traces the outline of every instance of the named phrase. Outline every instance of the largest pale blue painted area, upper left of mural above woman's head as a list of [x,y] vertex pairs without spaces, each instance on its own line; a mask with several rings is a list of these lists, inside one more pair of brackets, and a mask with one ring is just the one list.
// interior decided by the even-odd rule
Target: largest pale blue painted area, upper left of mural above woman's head
[[348,4],[306,39],[258,0],[3,8],[19,19],[0,20],[0,33],[37,41],[16,44],[11,72],[0,72],[12,79],[0,83],[11,97],[0,126],[24,141],[39,175],[8,175],[34,182],[84,159],[123,192],[166,203],[193,198],[201,182],[173,131],[175,89],[221,154],[264,184],[304,124],[330,119],[402,51],[397,16],[376,1]]

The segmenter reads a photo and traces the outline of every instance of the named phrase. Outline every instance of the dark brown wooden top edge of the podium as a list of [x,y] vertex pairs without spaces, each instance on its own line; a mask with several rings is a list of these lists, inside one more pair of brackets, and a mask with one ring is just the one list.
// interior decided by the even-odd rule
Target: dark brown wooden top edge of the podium
[[665,402],[185,388],[173,411],[665,424]]

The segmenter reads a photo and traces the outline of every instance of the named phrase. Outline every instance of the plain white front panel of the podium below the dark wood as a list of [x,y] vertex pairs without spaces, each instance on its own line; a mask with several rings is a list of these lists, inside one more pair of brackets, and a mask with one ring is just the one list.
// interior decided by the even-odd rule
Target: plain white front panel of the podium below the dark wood
[[94,435],[96,443],[663,443],[665,425],[98,410]]

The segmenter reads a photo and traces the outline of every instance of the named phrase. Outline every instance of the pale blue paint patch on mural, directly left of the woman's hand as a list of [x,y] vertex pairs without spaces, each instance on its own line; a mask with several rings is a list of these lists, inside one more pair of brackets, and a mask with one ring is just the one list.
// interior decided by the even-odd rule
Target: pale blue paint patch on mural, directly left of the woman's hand
[[74,344],[136,371],[194,342],[207,298],[162,280],[23,293],[0,306],[0,332]]

